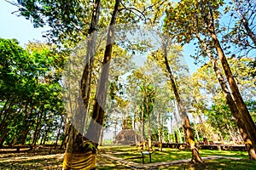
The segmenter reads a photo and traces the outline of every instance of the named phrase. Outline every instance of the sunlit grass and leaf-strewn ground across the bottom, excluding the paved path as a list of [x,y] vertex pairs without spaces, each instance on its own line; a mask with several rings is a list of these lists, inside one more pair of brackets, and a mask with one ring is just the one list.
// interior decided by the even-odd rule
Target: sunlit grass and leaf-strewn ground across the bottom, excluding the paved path
[[[29,151],[21,149],[20,153],[15,150],[0,150],[0,169],[62,169],[63,153],[65,150],[52,150],[49,155],[49,149],[38,149]],[[131,169],[125,167],[119,161],[114,161],[106,155],[120,157],[126,161],[142,163],[142,154],[139,148],[130,146],[104,146],[100,147],[97,156],[96,169]],[[200,150],[201,156],[230,156],[239,157],[241,160],[231,159],[213,159],[206,160],[204,165],[201,164],[176,164],[171,167],[157,167],[154,169],[256,169],[256,161],[248,159],[246,151],[229,151],[229,150]],[[154,151],[152,162],[173,161],[188,158],[191,153],[189,150],[164,149],[162,152]],[[148,156],[145,162],[148,163]],[[150,165],[150,164],[149,164]]]

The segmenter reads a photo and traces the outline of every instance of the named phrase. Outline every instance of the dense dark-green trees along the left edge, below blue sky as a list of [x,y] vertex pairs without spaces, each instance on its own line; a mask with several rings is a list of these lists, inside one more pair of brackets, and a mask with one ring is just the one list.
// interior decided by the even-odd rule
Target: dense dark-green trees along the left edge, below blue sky
[[32,132],[53,135],[63,114],[64,55],[43,43],[31,42],[24,49],[16,40],[3,38],[0,53],[0,132],[8,130],[1,143],[24,144]]

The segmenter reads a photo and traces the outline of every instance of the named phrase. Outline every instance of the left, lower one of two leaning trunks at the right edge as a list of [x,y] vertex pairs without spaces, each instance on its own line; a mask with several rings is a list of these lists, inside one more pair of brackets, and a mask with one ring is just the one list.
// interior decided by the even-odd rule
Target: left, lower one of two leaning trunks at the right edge
[[234,101],[234,99],[232,98],[232,96],[230,94],[230,90],[229,90],[228,86],[224,82],[224,77],[221,74],[220,69],[218,68],[217,59],[213,58],[210,49],[207,47],[207,44],[204,43],[201,40],[201,37],[199,36],[199,34],[197,35],[197,39],[199,40],[199,42],[201,42],[201,45],[203,45],[203,47],[205,48],[205,50],[207,52],[207,55],[208,55],[208,57],[210,58],[210,60],[212,62],[212,67],[213,67],[213,70],[216,73],[216,76],[218,78],[218,82],[219,82],[219,84],[222,88],[222,92],[224,93],[227,104],[230,107],[230,111],[231,111],[232,115],[235,118],[235,122],[237,124],[238,129],[239,129],[239,132],[241,133],[241,137],[242,137],[242,139],[244,140],[244,142],[246,144],[248,155],[249,155],[250,159],[256,160],[255,148],[253,147],[253,143],[252,143],[251,139],[247,135],[247,130],[246,130],[246,127],[244,125],[244,122],[241,122],[240,116],[242,115],[242,113],[239,113],[239,110],[238,110],[239,106],[236,105],[236,102]]

